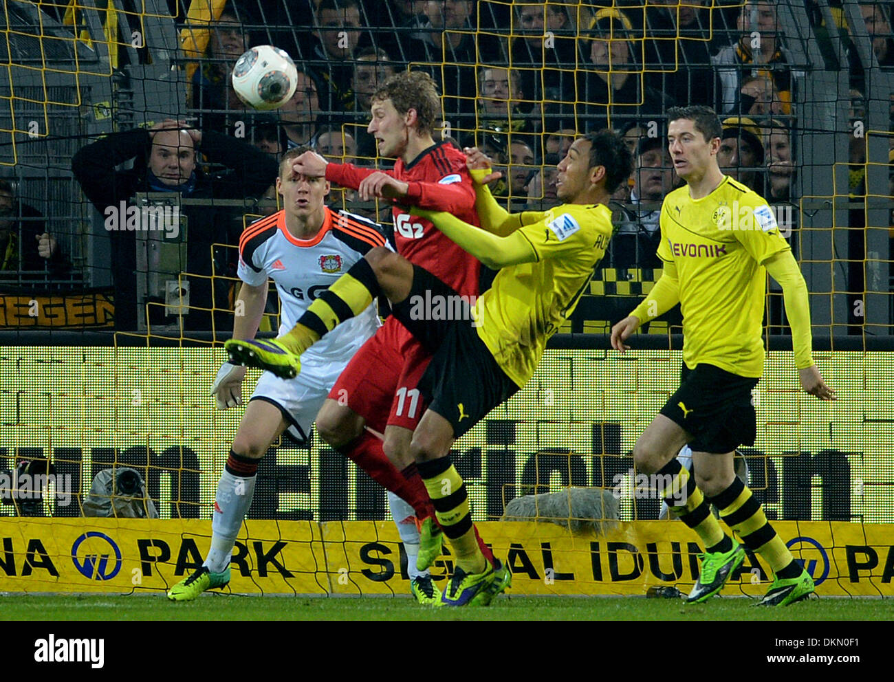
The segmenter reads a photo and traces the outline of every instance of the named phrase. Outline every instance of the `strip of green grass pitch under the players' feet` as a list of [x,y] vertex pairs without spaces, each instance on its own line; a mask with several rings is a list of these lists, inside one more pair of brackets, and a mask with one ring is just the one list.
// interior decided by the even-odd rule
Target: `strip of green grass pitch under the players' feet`
[[687,605],[644,597],[502,596],[490,607],[434,609],[409,597],[300,597],[203,594],[0,595],[0,619],[31,620],[894,620],[892,599],[814,599],[786,608],[742,597]]

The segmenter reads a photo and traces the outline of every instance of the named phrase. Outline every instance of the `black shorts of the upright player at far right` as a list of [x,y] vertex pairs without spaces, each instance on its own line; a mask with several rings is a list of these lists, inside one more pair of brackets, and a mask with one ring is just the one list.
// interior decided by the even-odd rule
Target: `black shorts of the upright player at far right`
[[713,365],[686,365],[679,389],[664,403],[661,414],[692,434],[696,452],[732,452],[754,445],[757,415],[751,391],[759,379],[734,375]]

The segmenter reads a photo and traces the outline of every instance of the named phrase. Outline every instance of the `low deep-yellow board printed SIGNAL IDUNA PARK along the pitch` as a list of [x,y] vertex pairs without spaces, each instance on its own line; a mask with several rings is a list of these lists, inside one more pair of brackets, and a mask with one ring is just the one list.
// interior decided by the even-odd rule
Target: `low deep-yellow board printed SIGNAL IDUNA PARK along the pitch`
[[[894,597],[894,528],[887,524],[774,524],[821,596]],[[687,592],[698,574],[696,535],[679,521],[619,522],[573,535],[535,522],[485,522],[481,535],[512,571],[511,594]],[[0,592],[160,592],[201,565],[211,522],[0,519]],[[437,584],[452,571],[434,565]],[[406,555],[388,521],[249,521],[232,558],[234,594],[408,594]],[[724,594],[759,595],[772,576],[749,554]]]

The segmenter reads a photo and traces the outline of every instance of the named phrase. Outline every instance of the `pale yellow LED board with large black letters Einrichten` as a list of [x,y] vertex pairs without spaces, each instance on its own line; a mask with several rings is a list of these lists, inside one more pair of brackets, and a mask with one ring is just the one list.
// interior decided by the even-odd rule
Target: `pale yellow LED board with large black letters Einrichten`
[[[839,400],[806,395],[790,352],[767,355],[757,441],[744,449],[750,486],[772,520],[894,523],[894,353],[814,355]],[[221,349],[0,348],[0,470],[52,459],[71,494],[45,513],[74,518],[97,471],[126,465],[162,518],[210,519],[243,414],[215,409],[208,395],[225,358]],[[454,445],[475,520],[568,485],[616,488],[621,519],[657,518],[660,501],[624,494],[629,452],[679,385],[680,362],[679,351],[547,350],[532,380]],[[249,372],[245,398],[258,375]],[[266,453],[253,509],[290,520],[388,516],[384,491],[316,437]],[[12,515],[0,504],[0,517]]]

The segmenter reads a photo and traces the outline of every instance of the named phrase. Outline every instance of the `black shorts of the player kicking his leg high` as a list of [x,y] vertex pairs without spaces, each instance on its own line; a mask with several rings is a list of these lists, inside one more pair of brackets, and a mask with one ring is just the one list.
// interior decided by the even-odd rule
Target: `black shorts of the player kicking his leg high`
[[469,301],[425,268],[413,265],[409,296],[392,313],[433,354],[417,388],[455,438],[519,391],[478,336]]

